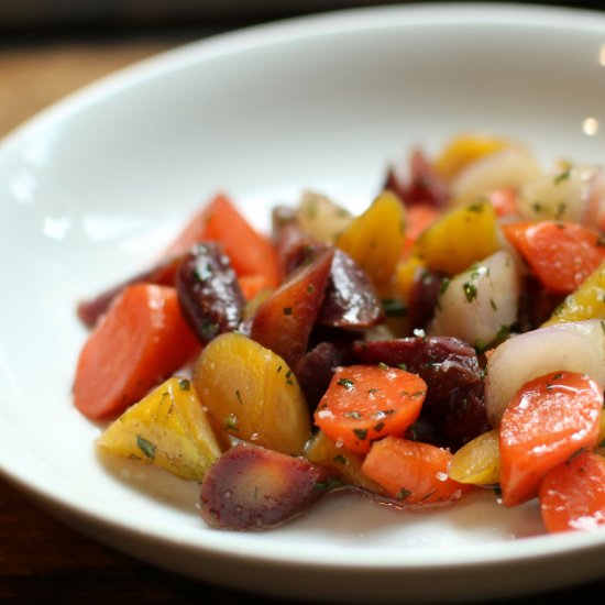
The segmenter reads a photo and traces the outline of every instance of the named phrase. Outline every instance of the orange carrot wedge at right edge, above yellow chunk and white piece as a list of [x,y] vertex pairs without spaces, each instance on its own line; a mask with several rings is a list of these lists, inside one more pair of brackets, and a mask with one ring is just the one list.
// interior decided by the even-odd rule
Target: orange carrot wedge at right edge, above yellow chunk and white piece
[[570,294],[605,260],[598,231],[562,221],[521,221],[502,226],[544,288]]

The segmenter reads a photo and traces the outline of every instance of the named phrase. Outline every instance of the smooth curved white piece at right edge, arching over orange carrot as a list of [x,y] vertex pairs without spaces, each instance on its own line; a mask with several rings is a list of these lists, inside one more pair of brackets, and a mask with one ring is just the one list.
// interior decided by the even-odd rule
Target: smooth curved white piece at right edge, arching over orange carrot
[[515,336],[487,361],[485,406],[498,427],[515,393],[549,372],[579,372],[605,385],[605,322],[601,319],[558,323]]

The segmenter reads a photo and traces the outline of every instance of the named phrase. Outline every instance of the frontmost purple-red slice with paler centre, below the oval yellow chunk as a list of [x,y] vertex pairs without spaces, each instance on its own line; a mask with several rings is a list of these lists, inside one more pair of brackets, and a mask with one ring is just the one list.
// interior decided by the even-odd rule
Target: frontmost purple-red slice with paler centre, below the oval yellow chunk
[[331,473],[304,458],[240,443],[201,483],[201,517],[217,529],[261,530],[305,512],[333,485]]

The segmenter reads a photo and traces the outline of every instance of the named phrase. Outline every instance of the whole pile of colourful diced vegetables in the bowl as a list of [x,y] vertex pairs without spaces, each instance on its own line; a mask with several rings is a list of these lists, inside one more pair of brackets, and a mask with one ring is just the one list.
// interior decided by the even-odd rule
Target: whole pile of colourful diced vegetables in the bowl
[[548,531],[605,522],[603,167],[461,134],[387,167],[359,216],[308,190],[272,223],[217,194],[78,305],[99,450],[199,483],[221,529],[342,488],[404,512],[491,488],[537,498]]

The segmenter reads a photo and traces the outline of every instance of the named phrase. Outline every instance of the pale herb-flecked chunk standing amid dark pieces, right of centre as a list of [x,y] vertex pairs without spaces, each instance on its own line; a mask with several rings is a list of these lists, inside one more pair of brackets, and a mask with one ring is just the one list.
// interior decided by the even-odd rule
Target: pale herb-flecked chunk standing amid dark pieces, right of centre
[[517,317],[517,265],[499,251],[444,282],[428,332],[458,337],[483,349],[508,333]]

